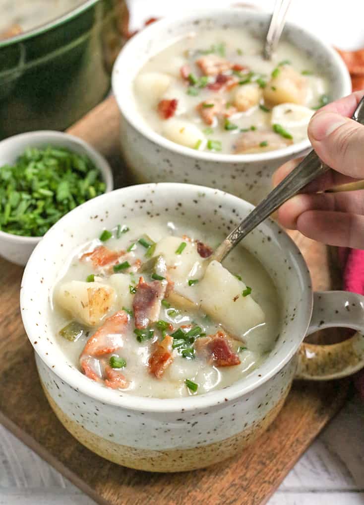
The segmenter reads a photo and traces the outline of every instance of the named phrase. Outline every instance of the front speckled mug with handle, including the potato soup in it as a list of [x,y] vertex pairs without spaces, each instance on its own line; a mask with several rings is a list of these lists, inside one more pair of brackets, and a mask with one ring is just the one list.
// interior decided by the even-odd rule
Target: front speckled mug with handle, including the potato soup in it
[[40,380],[60,422],[98,455],[148,471],[208,466],[269,426],[294,377],[363,365],[360,333],[302,343],[319,327],[362,331],[364,298],[313,294],[273,221],[212,261],[252,208],[202,186],[131,186],[77,207],[35,248],[21,313]]

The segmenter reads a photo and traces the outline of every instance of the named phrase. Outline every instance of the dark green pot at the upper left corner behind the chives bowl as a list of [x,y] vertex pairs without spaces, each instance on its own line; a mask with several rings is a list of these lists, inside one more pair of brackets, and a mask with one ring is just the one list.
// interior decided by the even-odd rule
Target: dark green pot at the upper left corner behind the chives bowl
[[88,0],[39,28],[0,41],[0,139],[64,130],[97,105],[124,38],[120,0]]

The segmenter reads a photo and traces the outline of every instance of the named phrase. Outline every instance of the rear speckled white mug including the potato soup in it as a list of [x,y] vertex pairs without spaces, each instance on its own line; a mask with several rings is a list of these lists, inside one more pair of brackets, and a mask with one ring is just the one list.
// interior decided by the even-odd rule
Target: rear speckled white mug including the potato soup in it
[[217,187],[257,204],[273,171],[310,147],[315,110],[351,91],[332,47],[287,23],[262,57],[270,16],[244,9],[158,21],[113,70],[120,142],[138,182]]

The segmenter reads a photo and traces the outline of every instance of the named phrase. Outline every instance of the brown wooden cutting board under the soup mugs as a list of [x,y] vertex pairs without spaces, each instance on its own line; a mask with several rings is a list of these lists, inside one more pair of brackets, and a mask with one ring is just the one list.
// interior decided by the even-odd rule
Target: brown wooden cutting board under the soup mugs
[[[112,97],[69,130],[112,164],[115,187],[132,183],[118,150]],[[325,246],[291,233],[315,289],[340,288]],[[0,260],[0,422],[102,505],[263,505],[325,424],[342,407],[348,381],[295,383],[276,421],[240,457],[184,474],[152,474],[116,466],[80,445],[51,411],[38,380],[19,310],[23,268]],[[321,339],[337,339],[337,331]]]

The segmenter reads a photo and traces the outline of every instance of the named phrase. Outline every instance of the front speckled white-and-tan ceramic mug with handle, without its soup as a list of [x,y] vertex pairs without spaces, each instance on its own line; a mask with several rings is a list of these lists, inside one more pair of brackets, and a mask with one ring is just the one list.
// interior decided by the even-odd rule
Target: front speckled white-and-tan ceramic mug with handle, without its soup
[[22,280],[21,313],[40,379],[59,420],[98,455],[157,472],[211,465],[243,450],[269,426],[294,376],[328,379],[364,365],[364,338],[359,333],[344,344],[301,343],[319,327],[364,330],[364,298],[340,291],[313,296],[299,250],[269,220],[244,240],[244,246],[276,283],[282,298],[282,323],[270,355],[245,379],[197,396],[145,398],[105,388],[67,361],[51,329],[49,296],[75,247],[97,236],[103,227],[145,216],[147,228],[165,213],[171,220],[180,216],[193,220],[211,234],[216,229],[227,233],[251,209],[251,204],[236,196],[201,186],[131,186],[77,207],[33,251]]

